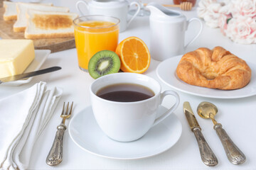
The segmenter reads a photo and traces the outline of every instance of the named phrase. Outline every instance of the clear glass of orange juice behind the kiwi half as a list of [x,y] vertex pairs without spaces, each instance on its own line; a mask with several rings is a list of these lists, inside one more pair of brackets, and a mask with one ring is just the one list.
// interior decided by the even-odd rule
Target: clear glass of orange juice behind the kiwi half
[[116,50],[119,22],[111,16],[81,16],[73,21],[78,65],[82,71],[87,72],[90,58],[96,52]]

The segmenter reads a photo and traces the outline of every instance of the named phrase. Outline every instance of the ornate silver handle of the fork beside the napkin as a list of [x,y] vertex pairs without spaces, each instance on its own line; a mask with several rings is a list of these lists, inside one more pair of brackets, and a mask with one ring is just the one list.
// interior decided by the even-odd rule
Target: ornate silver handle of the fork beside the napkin
[[46,164],[54,166],[63,160],[63,135],[67,127],[63,124],[58,125],[53,146],[46,158]]

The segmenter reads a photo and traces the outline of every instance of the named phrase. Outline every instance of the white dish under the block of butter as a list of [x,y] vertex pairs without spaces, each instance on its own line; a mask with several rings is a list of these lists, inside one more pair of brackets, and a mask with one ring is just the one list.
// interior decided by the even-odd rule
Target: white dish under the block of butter
[[[28,68],[24,72],[33,72],[40,69],[43,63],[46,61],[46,58],[50,55],[50,50],[35,50],[35,58],[28,65]],[[21,84],[27,84],[31,81],[33,77],[29,77],[28,79],[21,79],[17,81],[9,81],[6,83],[2,83],[1,86],[20,86]]]

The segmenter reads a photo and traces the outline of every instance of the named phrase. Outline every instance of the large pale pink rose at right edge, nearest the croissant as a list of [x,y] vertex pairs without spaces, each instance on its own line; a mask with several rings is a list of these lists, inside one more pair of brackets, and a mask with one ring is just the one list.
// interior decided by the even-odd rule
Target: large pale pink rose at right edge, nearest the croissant
[[256,22],[248,16],[232,18],[225,33],[234,42],[251,44],[256,42]]

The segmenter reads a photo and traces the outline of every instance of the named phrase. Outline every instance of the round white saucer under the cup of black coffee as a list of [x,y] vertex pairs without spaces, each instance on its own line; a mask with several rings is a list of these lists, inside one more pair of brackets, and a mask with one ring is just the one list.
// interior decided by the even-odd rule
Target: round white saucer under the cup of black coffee
[[[166,108],[160,107],[159,115],[165,111]],[[76,145],[91,154],[111,159],[141,159],[160,154],[174,146],[181,137],[182,125],[172,113],[139,140],[117,142],[100,130],[89,106],[70,120],[68,132]]]

